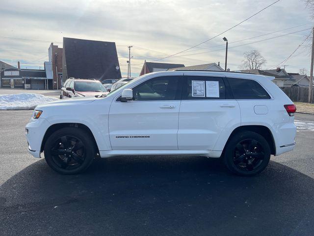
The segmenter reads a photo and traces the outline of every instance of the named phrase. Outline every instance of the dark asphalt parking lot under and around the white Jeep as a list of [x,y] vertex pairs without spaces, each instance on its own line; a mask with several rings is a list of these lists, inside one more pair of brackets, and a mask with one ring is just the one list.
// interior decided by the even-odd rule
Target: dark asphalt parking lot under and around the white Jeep
[[0,111],[1,236],[314,234],[314,115],[296,114],[295,150],[256,177],[205,157],[147,156],[62,176],[27,152],[31,113]]

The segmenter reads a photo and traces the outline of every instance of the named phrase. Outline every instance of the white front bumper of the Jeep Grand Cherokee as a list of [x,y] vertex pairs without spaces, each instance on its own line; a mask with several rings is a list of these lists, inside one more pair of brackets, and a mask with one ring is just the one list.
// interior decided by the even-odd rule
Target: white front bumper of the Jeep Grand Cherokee
[[40,157],[40,149],[46,130],[51,126],[50,122],[45,118],[34,119],[28,122],[25,128],[26,140],[28,143],[28,152],[34,157]]

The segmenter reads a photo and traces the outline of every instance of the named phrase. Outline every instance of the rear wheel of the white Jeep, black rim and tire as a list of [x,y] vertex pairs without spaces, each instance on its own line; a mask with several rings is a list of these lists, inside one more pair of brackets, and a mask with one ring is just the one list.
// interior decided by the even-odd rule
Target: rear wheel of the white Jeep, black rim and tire
[[270,147],[265,138],[252,131],[242,131],[228,141],[223,155],[226,167],[235,175],[254,176],[269,163]]

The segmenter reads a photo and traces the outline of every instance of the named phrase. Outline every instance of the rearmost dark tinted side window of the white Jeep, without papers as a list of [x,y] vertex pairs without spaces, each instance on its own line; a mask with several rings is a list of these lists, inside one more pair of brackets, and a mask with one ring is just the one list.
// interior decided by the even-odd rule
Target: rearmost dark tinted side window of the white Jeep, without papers
[[270,99],[269,94],[254,80],[227,78],[235,99]]

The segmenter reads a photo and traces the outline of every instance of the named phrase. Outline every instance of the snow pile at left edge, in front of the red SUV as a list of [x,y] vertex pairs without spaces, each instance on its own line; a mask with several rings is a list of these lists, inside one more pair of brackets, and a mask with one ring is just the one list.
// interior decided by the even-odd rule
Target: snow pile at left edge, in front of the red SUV
[[0,110],[33,110],[38,104],[58,100],[35,93],[0,95]]

